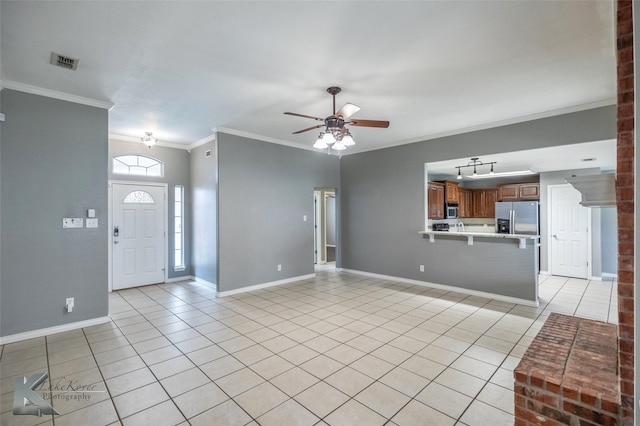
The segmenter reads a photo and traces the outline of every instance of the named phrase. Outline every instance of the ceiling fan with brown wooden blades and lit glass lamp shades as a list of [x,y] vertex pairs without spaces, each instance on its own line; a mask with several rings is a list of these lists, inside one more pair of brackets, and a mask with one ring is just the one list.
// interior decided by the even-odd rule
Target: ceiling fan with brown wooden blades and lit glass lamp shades
[[316,121],[322,121],[323,124],[318,124],[316,126],[311,126],[306,129],[298,130],[297,132],[293,132],[294,135],[298,133],[308,132],[309,130],[319,129],[324,127],[324,132],[320,132],[320,136],[316,143],[313,144],[314,148],[318,149],[335,149],[337,151],[342,151],[346,149],[347,146],[354,145],[353,137],[351,136],[351,132],[349,129],[345,127],[345,125],[350,126],[361,126],[361,127],[381,127],[387,128],[389,127],[388,121],[382,120],[349,120],[349,118],[360,111],[360,107],[351,103],[346,103],[342,108],[336,111],[336,95],[340,93],[342,89],[336,86],[331,86],[327,89],[327,92],[333,96],[333,114],[328,116],[327,118],[313,117],[311,115],[298,114],[295,112],[285,112],[288,115],[295,115],[297,117],[310,118]]

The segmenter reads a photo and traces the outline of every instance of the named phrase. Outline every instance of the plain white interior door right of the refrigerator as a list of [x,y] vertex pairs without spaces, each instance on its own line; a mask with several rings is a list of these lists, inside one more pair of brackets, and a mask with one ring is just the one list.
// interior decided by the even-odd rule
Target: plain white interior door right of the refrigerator
[[571,185],[549,186],[551,199],[551,273],[566,277],[589,275],[589,209]]

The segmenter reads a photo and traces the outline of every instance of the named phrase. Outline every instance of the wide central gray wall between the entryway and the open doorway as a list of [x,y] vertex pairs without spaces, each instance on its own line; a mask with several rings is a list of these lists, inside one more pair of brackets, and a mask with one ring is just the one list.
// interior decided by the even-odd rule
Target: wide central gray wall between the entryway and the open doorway
[[313,191],[339,195],[339,158],[225,133],[217,144],[218,291],[312,274]]

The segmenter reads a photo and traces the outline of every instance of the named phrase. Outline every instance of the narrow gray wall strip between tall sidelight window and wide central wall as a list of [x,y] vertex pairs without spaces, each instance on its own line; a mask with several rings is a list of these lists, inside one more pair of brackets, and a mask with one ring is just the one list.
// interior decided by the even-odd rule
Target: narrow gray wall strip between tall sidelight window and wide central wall
[[[210,157],[205,153],[211,152]],[[193,275],[218,282],[218,152],[214,142],[191,151]]]

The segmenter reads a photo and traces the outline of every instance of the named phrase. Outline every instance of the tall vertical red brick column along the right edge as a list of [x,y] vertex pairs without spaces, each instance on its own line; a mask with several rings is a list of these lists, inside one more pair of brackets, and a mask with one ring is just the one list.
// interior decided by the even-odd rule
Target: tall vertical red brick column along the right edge
[[633,424],[634,382],[634,84],[633,2],[616,2],[618,141],[616,200],[618,207],[618,323],[622,424]]

